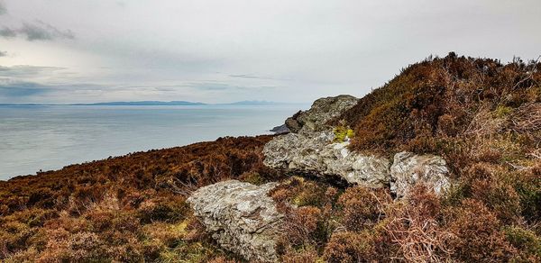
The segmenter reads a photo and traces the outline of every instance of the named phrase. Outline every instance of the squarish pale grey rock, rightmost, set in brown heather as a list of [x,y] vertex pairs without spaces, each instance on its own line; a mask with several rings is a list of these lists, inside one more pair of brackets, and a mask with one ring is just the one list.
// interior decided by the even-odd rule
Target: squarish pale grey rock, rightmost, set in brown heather
[[390,167],[390,191],[403,197],[412,186],[422,183],[441,195],[451,186],[445,159],[435,155],[399,152]]

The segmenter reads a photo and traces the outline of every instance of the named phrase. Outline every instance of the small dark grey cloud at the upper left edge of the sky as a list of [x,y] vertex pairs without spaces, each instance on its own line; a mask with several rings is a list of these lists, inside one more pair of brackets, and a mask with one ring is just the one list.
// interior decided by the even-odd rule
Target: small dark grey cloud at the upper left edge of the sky
[[75,34],[70,30],[61,31],[60,29],[38,21],[36,23],[23,23],[20,29],[4,27],[0,30],[0,36],[4,38],[14,38],[17,35],[23,35],[27,41],[52,41],[56,39],[75,39]]

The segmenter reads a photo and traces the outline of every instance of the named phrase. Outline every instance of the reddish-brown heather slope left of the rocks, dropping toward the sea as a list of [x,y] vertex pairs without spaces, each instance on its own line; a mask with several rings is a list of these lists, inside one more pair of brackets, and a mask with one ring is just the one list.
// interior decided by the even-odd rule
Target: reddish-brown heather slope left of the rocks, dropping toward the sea
[[[224,254],[190,234],[185,196],[224,178],[258,182],[271,136],[221,138],[0,181],[0,261],[196,260]],[[185,243],[187,245],[185,245]]]

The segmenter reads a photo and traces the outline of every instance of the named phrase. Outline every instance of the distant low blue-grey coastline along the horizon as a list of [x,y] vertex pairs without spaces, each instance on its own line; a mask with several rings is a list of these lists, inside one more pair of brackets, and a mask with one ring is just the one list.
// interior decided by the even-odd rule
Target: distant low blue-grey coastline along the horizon
[[101,102],[91,104],[0,104],[0,106],[200,106],[200,105],[272,105],[272,104],[301,104],[280,103],[269,101],[240,101],[228,104],[206,104],[188,101],[135,101],[135,102]]

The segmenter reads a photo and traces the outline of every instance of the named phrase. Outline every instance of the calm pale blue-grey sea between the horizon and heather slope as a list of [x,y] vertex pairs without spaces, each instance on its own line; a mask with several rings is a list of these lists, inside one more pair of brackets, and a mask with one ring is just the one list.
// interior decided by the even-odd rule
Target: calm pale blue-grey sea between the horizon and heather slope
[[306,107],[0,106],[0,180],[134,151],[270,133]]

